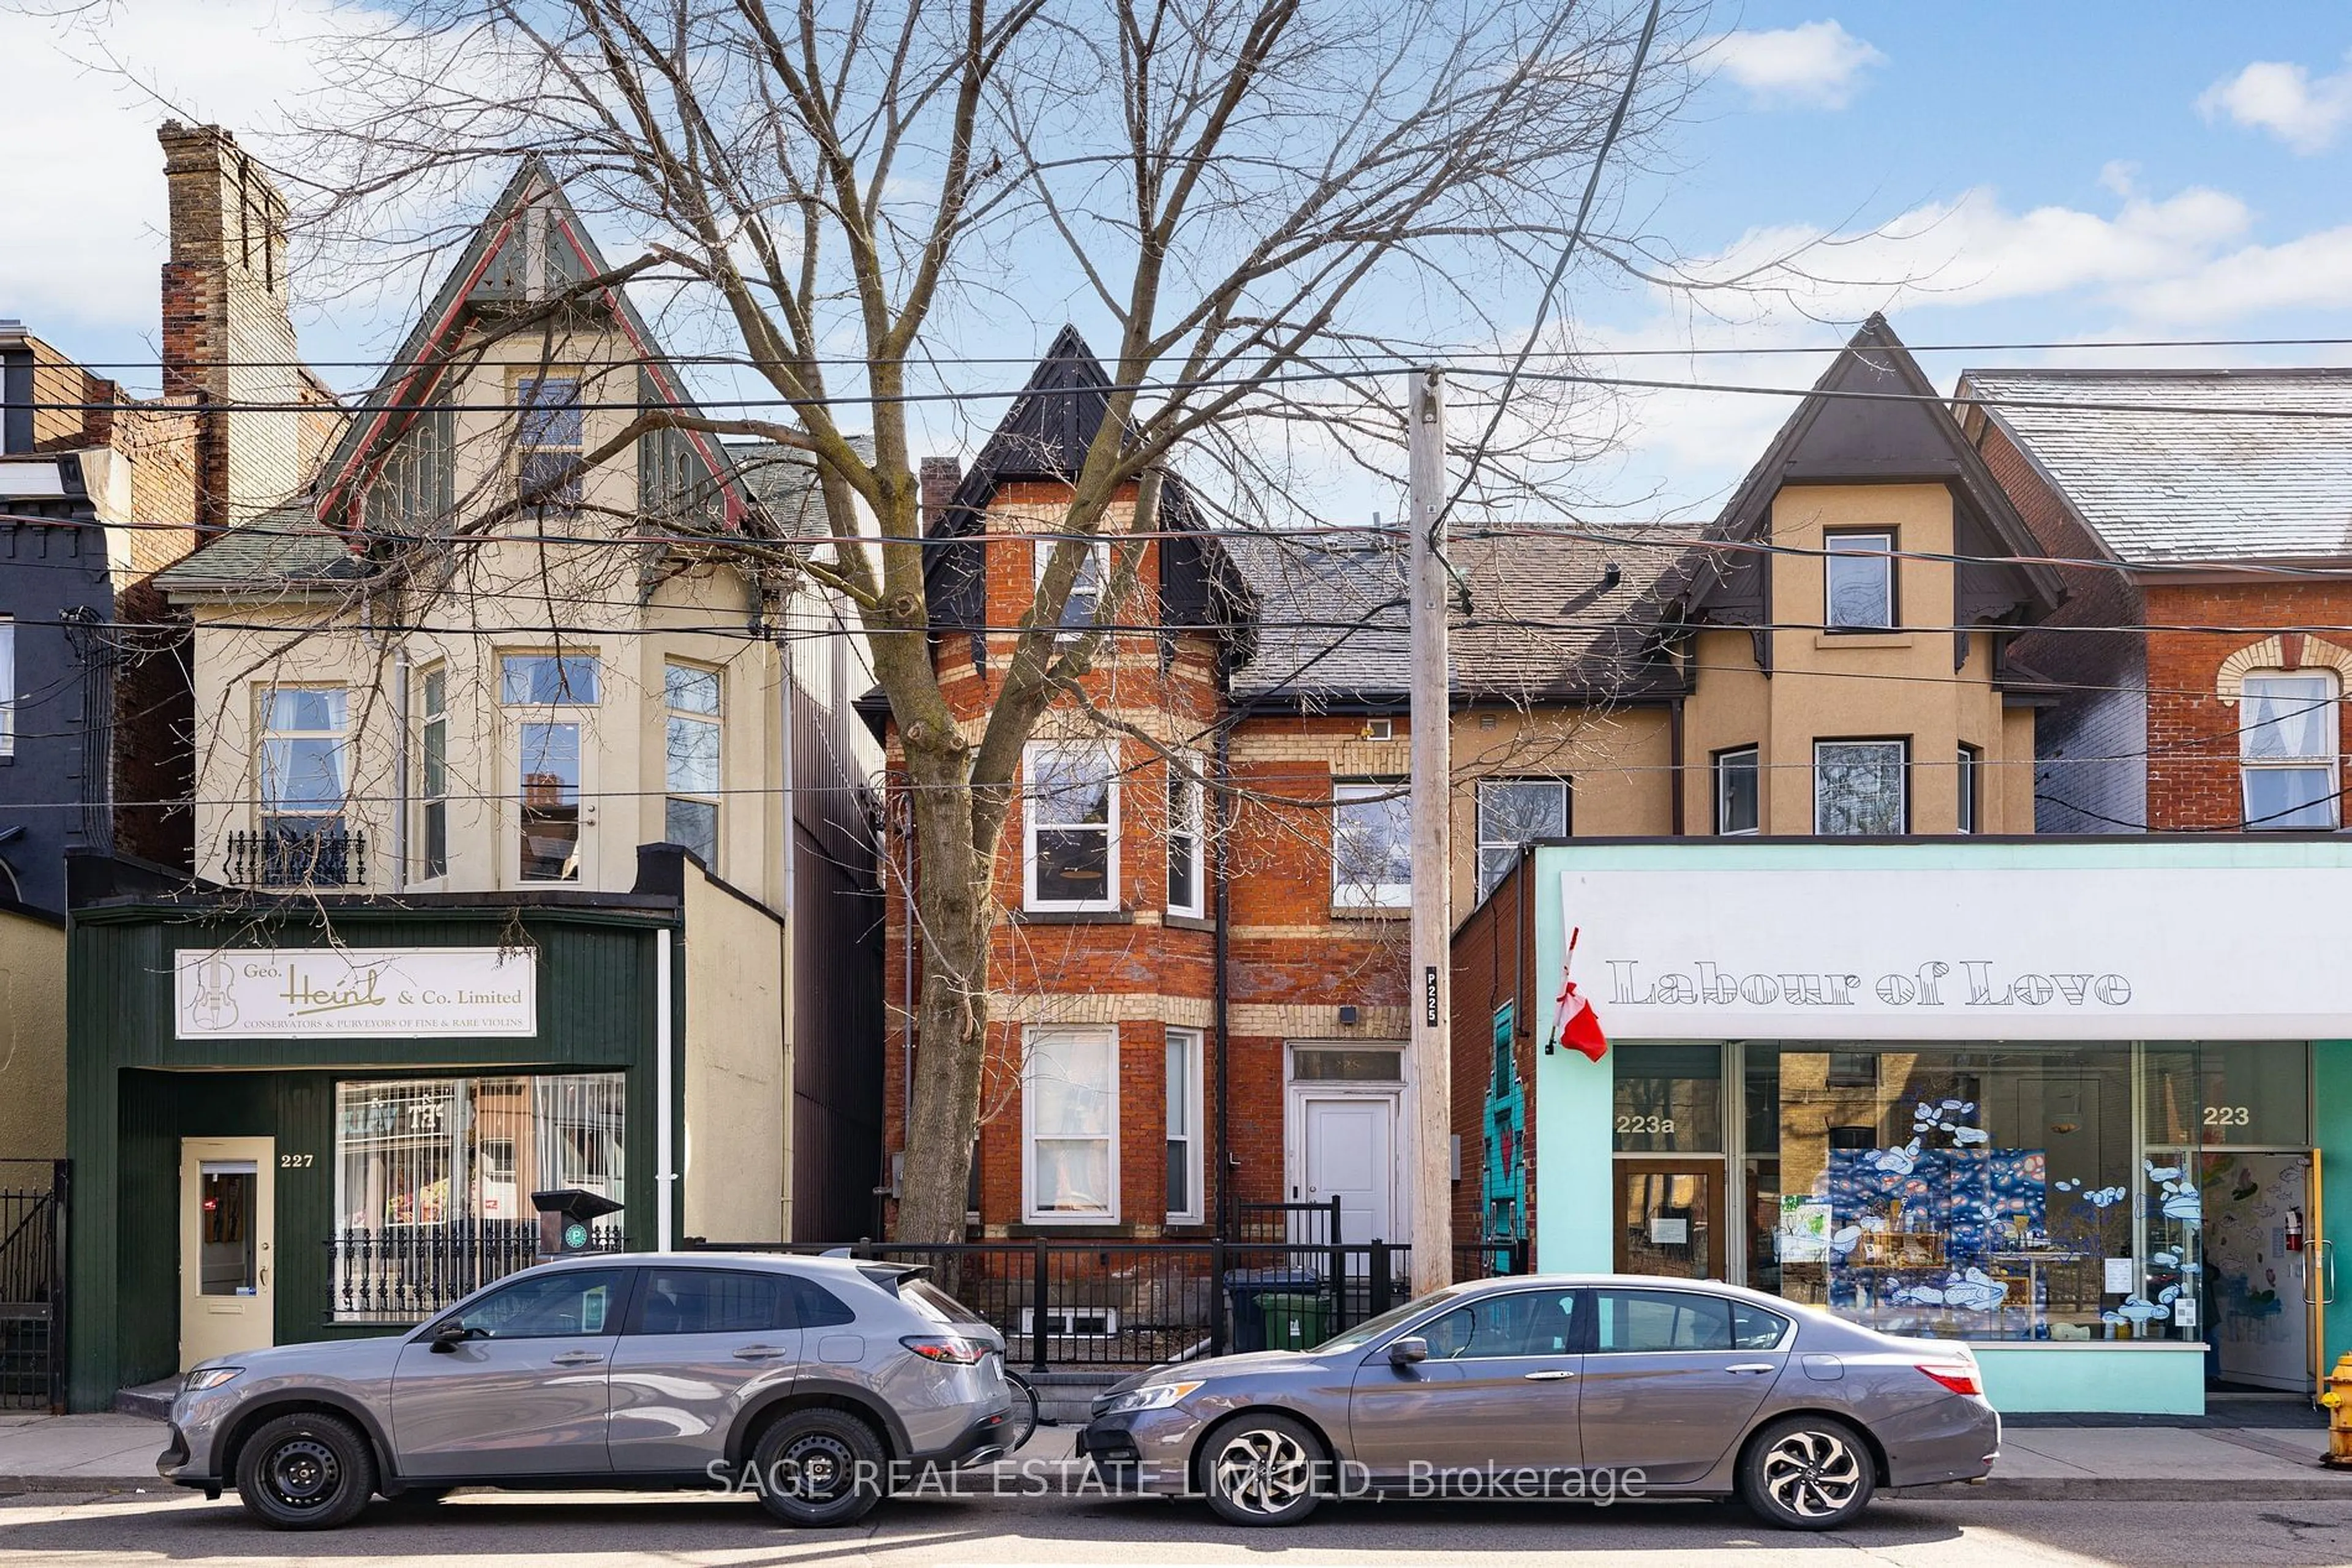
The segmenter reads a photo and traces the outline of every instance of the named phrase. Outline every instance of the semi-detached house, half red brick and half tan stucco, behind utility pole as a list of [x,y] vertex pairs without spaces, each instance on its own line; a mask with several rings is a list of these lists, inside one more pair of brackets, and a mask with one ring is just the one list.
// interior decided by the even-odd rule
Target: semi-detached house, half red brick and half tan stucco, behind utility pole
[[[1030,607],[1047,548],[1033,536],[1061,517],[1103,386],[1065,329],[969,470],[924,463],[934,658],[967,722],[1002,679],[1011,635],[997,628]],[[1872,320],[1823,386],[1926,381]],[[1244,534],[1204,510],[1164,475],[1145,602],[1115,618],[1136,630],[1028,748],[995,882],[971,1222],[985,1237],[1235,1234],[1232,1204],[1336,1201],[1350,1244],[1409,1241],[1404,1173],[1449,1152],[1416,1152],[1406,1114],[1402,538]],[[1990,559],[2030,552],[2032,536],[1950,414],[1933,397],[1809,400],[1703,543],[1755,541],[1792,552],[1759,569],[1755,552],[1693,548],[1691,531],[1465,529],[1449,543],[1468,595],[1456,910],[1522,844],[1571,832],[2032,827],[2039,698],[2006,646],[2056,602],[2056,578]],[[1955,550],[1987,562],[1955,569]],[[1094,616],[1089,581],[1073,618]],[[1828,630],[1778,630],[1802,621]],[[1853,679],[1872,675],[1889,679]],[[880,693],[866,712],[896,790]],[[894,806],[889,1147],[920,1070],[901,823]],[[1472,1190],[1477,1159],[1463,1150]]]

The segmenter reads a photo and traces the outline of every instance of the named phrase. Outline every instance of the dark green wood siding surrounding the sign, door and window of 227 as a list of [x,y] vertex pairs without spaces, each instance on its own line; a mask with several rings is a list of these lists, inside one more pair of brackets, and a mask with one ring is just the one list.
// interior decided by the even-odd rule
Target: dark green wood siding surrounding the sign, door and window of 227
[[[278,1175],[278,1342],[353,1333],[327,1324],[325,1241],[334,1229],[334,1084],[362,1077],[623,1072],[623,1213],[630,1246],[654,1241],[654,954],[675,914],[532,910],[339,910],[353,947],[489,947],[520,931],[539,947],[534,1039],[172,1039],[172,954],[263,947],[254,922],[103,910],[68,936],[71,1387],[103,1410],[118,1387],[179,1366],[179,1140],[273,1138],[310,1166]],[[278,945],[327,933],[287,919]],[[682,1009],[682,997],[673,999]],[[675,1025],[675,1020],[673,1020]],[[673,1034],[682,1039],[682,1034]],[[360,1333],[381,1333],[365,1328]]]

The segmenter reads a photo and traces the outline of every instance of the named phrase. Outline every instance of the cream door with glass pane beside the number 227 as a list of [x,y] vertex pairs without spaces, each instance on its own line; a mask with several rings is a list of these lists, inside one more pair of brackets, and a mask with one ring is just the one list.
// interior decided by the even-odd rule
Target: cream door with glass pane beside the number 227
[[275,1335],[278,1143],[179,1140],[179,1368]]

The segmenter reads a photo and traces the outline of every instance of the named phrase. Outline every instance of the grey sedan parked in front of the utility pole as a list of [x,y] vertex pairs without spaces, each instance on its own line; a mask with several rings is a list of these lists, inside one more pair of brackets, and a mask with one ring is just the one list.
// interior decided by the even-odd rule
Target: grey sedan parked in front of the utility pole
[[1305,1352],[1157,1366],[1096,1399],[1080,1453],[1232,1523],[1357,1495],[1738,1495],[1830,1530],[1879,1486],[1983,1476],[1999,1443],[1966,1345],[1736,1286],[1517,1276]]

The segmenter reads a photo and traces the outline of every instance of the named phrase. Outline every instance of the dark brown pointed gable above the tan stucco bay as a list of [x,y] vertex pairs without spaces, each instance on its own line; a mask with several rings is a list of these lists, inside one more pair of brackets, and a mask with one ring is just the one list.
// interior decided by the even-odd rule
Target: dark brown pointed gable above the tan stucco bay
[[1672,595],[1684,618],[1771,623],[1771,552],[1722,545],[1766,543],[1783,484],[1947,487],[1962,557],[1952,625],[2034,621],[2063,597],[2058,574],[2032,559],[2042,555],[2032,531],[1882,315],[1820,374],[1684,564]]

